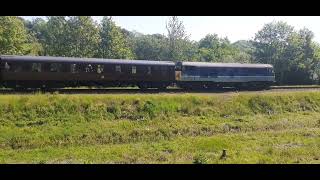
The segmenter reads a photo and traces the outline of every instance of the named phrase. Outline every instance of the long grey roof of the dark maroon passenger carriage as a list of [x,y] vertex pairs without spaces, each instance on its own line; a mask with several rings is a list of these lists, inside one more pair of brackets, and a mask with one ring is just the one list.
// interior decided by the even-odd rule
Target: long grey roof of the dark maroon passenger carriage
[[103,63],[103,64],[136,64],[136,65],[174,65],[170,61],[153,60],[127,60],[127,59],[98,59],[98,58],[74,58],[74,57],[51,57],[51,56],[14,56],[2,55],[0,60],[6,61],[30,61],[30,62],[74,62],[74,63]]

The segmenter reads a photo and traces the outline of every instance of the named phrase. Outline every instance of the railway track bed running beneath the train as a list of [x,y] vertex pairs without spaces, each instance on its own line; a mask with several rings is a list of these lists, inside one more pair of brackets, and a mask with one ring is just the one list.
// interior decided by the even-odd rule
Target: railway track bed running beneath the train
[[36,93],[58,93],[58,94],[159,94],[159,93],[264,93],[278,91],[320,91],[320,86],[272,86],[267,90],[238,90],[235,88],[223,88],[217,90],[184,90],[178,88],[158,90],[158,89],[125,89],[125,88],[106,88],[106,89],[90,89],[90,88],[75,88],[75,89],[50,89],[50,90],[13,90],[0,89],[0,94],[36,94]]

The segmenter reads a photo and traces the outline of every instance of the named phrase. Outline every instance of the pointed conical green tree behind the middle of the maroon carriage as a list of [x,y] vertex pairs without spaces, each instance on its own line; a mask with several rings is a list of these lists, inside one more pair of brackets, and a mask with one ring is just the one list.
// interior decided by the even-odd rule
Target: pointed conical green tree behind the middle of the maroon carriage
[[121,29],[111,17],[103,17],[100,27],[99,54],[102,58],[133,59],[134,54]]

